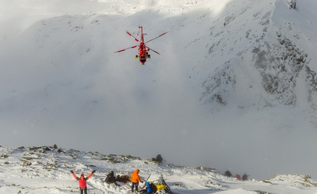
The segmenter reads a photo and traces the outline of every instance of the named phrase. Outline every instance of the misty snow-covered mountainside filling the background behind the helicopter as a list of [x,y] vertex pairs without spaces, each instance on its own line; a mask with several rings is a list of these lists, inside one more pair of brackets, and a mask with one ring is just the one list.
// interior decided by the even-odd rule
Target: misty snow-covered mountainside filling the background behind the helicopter
[[0,142],[315,178],[317,3],[287,2],[3,1]]

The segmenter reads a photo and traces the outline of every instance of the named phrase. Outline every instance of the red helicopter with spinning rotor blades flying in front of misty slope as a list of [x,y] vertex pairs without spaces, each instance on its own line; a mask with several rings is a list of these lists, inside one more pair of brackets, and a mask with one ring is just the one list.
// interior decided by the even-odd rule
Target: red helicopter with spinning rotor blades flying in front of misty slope
[[[135,59],[139,59],[139,60],[140,60],[140,63],[141,63],[142,65],[144,65],[145,62],[146,62],[146,59],[150,59],[150,58],[151,58],[151,55],[148,54],[148,52],[149,52],[150,50],[153,51],[154,53],[157,53],[157,54],[161,55],[159,52],[154,51],[154,50],[152,50],[151,48],[149,48],[148,46],[146,46],[145,43],[148,43],[149,41],[152,41],[152,40],[154,40],[154,39],[156,39],[156,38],[159,38],[160,36],[163,36],[164,34],[166,34],[166,33],[168,33],[168,32],[165,32],[165,33],[161,34],[160,36],[157,36],[156,38],[153,38],[153,39],[151,39],[151,40],[149,40],[149,41],[147,41],[147,42],[144,42],[144,38],[143,38],[143,28],[142,28],[142,26],[139,26],[139,29],[140,29],[140,28],[141,28],[141,41],[138,40],[137,38],[135,38],[135,37],[134,37],[131,33],[129,33],[128,31],[126,31],[126,33],[127,33],[129,36],[132,36],[135,41],[140,42],[140,45],[139,45],[139,55],[135,55]],[[135,47],[137,47],[137,46],[138,46],[138,45],[135,45],[135,46],[132,46],[132,47],[128,47],[128,48],[124,48],[123,50],[116,51],[115,53],[120,53],[120,52],[125,51],[125,50],[127,50],[127,49],[129,49],[129,48],[135,48]]]

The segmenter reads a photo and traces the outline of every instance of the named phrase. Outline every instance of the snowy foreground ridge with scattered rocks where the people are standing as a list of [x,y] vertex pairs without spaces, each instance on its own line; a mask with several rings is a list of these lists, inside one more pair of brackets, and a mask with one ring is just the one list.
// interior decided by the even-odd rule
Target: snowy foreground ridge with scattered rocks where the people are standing
[[104,179],[110,171],[123,176],[130,175],[136,168],[140,169],[143,181],[150,174],[162,175],[173,193],[316,193],[317,183],[308,175],[276,175],[263,181],[239,181],[201,166],[158,164],[139,157],[66,150],[56,145],[18,149],[0,147],[0,150],[2,193],[76,193],[79,192],[78,182],[70,171],[77,176],[81,173],[87,176],[93,169],[96,173],[87,180],[88,193],[127,193],[129,182],[118,182],[121,185],[118,187],[105,183]]

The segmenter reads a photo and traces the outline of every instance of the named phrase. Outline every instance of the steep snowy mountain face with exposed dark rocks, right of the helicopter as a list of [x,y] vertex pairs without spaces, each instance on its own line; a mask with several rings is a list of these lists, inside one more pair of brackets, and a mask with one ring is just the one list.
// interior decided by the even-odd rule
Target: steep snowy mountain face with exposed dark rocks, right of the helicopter
[[[209,54],[223,61],[201,100],[239,107],[285,104],[316,110],[315,1],[234,1],[211,27]],[[223,26],[220,26],[223,21]],[[305,23],[306,22],[306,23]]]

